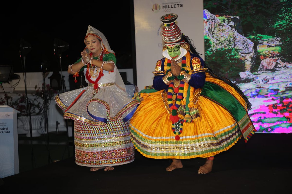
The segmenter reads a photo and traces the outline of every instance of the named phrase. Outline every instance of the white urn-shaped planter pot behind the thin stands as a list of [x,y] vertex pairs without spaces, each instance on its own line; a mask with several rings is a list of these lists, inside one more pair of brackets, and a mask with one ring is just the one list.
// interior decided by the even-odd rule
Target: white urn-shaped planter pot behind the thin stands
[[[20,116],[18,119],[23,124],[23,129],[27,131],[26,136],[30,137],[30,129],[29,129],[29,118],[28,116]],[[41,129],[41,120],[43,119],[42,115],[32,115],[32,137],[38,137],[41,136],[41,134],[38,132],[39,129]]]

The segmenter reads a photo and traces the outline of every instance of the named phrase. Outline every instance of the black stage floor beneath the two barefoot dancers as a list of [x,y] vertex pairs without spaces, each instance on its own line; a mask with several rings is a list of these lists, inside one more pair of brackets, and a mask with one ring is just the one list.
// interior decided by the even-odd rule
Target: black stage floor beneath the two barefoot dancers
[[168,159],[135,161],[113,171],[91,172],[74,157],[5,177],[0,193],[290,193],[292,134],[255,134],[215,156],[213,170],[197,174],[205,159],[183,160],[172,172]]

